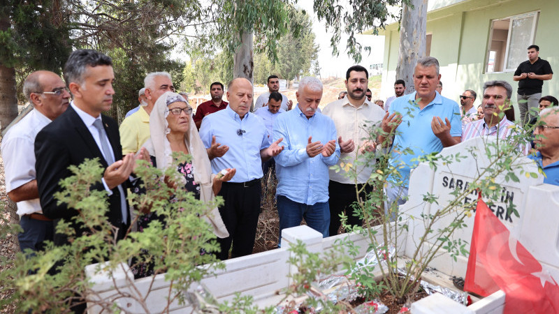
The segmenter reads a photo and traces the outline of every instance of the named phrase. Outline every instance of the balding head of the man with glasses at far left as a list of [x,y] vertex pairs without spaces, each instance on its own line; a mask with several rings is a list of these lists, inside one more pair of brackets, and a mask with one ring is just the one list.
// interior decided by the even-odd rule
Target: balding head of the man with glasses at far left
[[31,73],[23,83],[23,94],[38,112],[48,119],[56,119],[70,104],[70,93],[60,75],[38,70]]

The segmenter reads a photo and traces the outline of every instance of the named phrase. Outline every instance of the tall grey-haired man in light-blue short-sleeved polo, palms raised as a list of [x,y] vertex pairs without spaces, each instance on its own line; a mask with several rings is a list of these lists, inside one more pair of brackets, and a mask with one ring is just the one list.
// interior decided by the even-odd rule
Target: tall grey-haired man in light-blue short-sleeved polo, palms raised
[[[414,70],[415,92],[396,98],[382,121],[384,133],[393,136],[389,163],[398,169],[399,178],[389,177],[386,188],[388,204],[407,198],[409,172],[417,166],[412,161],[419,156],[439,152],[444,147],[460,143],[462,124],[458,103],[441,96],[439,61],[423,57]],[[384,143],[385,138],[379,137]],[[402,181],[399,186],[395,182]]]

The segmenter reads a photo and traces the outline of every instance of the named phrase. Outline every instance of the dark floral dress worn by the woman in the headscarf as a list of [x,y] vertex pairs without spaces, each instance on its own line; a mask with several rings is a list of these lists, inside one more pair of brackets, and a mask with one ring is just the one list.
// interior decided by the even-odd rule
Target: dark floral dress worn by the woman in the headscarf
[[[154,167],[157,167],[157,162],[155,159],[155,156],[150,156],[152,165]],[[187,190],[187,192],[191,192],[194,193],[194,197],[196,197],[196,200],[200,200],[200,186],[196,183],[196,181],[194,181],[194,167],[192,166],[191,163],[180,163],[177,166],[177,171],[182,174],[184,176],[184,179],[186,180],[186,184],[184,184],[184,189]],[[135,182],[133,182],[132,184],[132,192],[133,193],[145,193],[145,189],[144,188],[140,188],[140,184],[139,184],[140,180],[137,180]],[[174,198],[174,195],[171,196],[171,199]],[[143,230],[145,228],[147,228],[150,223],[153,220],[159,220],[161,221],[161,223],[163,225],[166,225],[166,221],[165,218],[162,216],[159,216],[158,214],[156,214],[155,212],[150,212],[147,214],[142,214],[139,218],[138,218],[138,232],[143,232]],[[147,253],[147,251],[145,252]],[[134,261],[135,259],[133,259],[132,264],[136,264],[136,262]],[[149,262],[149,263],[140,263],[137,264],[136,267],[132,268],[132,272],[134,274],[134,278],[144,278],[147,276],[153,276],[154,275],[154,271],[153,271],[153,263]]]

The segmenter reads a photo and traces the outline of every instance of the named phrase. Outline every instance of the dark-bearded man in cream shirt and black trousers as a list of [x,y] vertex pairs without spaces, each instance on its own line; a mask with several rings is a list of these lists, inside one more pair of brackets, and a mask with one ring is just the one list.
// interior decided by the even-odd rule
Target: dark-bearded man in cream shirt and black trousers
[[[357,159],[362,159],[366,151],[374,151],[374,142],[363,140],[369,137],[371,127],[377,126],[384,117],[384,110],[374,105],[365,98],[367,91],[369,73],[363,66],[351,66],[346,73],[345,86],[347,96],[340,100],[329,103],[322,112],[333,119],[337,140],[340,144],[341,155],[337,165],[342,168],[340,172],[329,170],[330,182],[328,184],[329,207],[330,207],[330,232],[331,236],[337,234],[340,228],[340,214],[346,211],[347,223],[349,225],[361,225],[361,218],[354,216],[351,204],[356,202],[357,195],[355,185],[362,188],[372,172],[371,167],[355,165]],[[356,145],[358,146],[356,149]],[[347,177],[342,163],[357,167],[357,177]],[[371,186],[365,186],[360,197],[365,198],[365,193],[372,190]]]

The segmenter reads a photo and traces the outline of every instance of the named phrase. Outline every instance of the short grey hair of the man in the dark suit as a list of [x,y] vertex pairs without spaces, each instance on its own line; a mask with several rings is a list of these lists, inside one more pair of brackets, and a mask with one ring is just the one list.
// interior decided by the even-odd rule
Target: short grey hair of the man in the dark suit
[[66,84],[82,84],[85,80],[87,67],[112,66],[112,59],[91,49],[75,50],[64,64],[64,80]]

